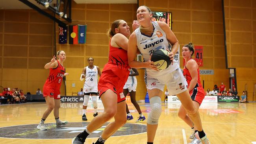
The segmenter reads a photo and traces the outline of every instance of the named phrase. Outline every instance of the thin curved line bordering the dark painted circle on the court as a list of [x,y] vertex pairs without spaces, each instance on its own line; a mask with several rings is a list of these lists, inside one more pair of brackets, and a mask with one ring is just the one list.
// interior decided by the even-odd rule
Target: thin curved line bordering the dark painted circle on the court
[[[75,123],[75,122],[70,122],[70,123]],[[129,123],[129,122],[126,122],[126,123],[134,124],[134,123]],[[45,123],[45,124],[52,124],[52,123]],[[24,126],[24,125],[31,125],[31,124],[20,124],[20,125],[14,125],[14,126]],[[138,125],[147,126],[145,124],[138,124]],[[5,126],[5,127],[12,127],[12,126]],[[0,128],[3,128],[3,127],[0,127]],[[147,131],[144,133],[147,133]],[[139,134],[143,134],[143,133],[135,133],[135,134],[131,134],[131,135],[139,135]],[[111,137],[122,137],[122,136],[130,136],[130,135],[117,135],[117,136],[111,136]],[[0,138],[8,138],[8,137],[0,137]],[[91,138],[98,138],[98,137],[91,137]],[[63,140],[70,140],[73,138],[11,138],[11,139],[28,139],[28,140],[62,140],[63,139]]]

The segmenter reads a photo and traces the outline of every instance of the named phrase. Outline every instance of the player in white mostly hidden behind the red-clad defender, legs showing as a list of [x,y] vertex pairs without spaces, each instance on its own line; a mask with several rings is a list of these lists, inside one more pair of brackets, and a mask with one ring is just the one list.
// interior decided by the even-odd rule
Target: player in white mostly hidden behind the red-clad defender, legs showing
[[[136,122],[142,122],[146,118],[141,113],[141,109],[139,107],[139,104],[136,102],[136,88],[137,88],[137,79],[135,76],[139,76],[139,72],[136,68],[131,68],[129,77],[124,85],[124,96],[127,96],[128,92],[130,93],[131,102],[134,105],[134,107],[137,109],[139,113],[139,119]],[[126,113],[127,113],[127,120],[134,119],[132,114],[130,114],[130,111],[128,109],[127,103],[126,103]]]

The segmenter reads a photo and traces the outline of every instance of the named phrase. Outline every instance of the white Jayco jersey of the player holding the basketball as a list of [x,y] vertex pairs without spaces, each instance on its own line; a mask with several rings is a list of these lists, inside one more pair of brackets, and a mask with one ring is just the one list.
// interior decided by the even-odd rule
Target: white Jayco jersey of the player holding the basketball
[[[137,46],[139,51],[141,52],[141,55],[144,58],[144,61],[148,61],[150,55],[155,50],[164,49],[164,50],[170,50],[171,45],[169,44],[169,41],[166,39],[165,32],[160,28],[157,21],[152,22],[154,27],[154,33],[151,35],[151,37],[148,37],[146,35],[141,34],[141,31],[139,28],[135,30],[136,37],[137,37]],[[165,70],[153,70],[146,68],[145,75],[148,76],[161,76],[163,74],[166,74],[168,72],[173,72],[180,66],[178,65],[177,61],[173,60],[173,65],[170,65]]]

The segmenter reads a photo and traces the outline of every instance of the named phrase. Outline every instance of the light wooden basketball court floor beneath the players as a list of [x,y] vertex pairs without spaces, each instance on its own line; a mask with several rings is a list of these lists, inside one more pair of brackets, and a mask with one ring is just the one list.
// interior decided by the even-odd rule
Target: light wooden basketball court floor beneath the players
[[[139,103],[143,114],[148,116],[148,103]],[[179,104],[162,103],[162,114],[154,144],[187,144],[191,141],[190,127],[178,118]],[[89,104],[88,122],[93,118],[92,105]],[[103,111],[101,103],[99,111]],[[129,104],[134,120],[128,121],[115,137],[105,144],[146,144],[146,120],[135,123],[138,113]],[[87,125],[82,121],[82,103],[61,103],[60,119],[68,120],[65,127],[56,128],[53,113],[46,119],[48,130],[36,129],[45,103],[25,103],[0,105],[0,144],[71,144],[71,138],[80,133]],[[256,144],[256,103],[205,103],[201,106],[200,116],[204,131],[211,144]],[[104,129],[93,133],[85,144],[92,144]]]

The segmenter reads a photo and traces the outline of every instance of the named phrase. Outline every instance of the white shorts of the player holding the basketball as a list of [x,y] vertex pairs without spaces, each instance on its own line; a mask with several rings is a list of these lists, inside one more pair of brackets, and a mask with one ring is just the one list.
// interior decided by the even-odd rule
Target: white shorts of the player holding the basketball
[[148,76],[145,74],[145,83],[147,89],[160,89],[163,91],[165,85],[170,95],[180,94],[187,90],[187,81],[184,78],[180,68],[177,68],[173,72],[161,75],[161,76]]

